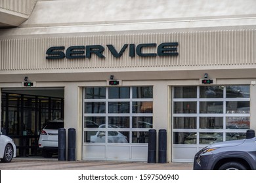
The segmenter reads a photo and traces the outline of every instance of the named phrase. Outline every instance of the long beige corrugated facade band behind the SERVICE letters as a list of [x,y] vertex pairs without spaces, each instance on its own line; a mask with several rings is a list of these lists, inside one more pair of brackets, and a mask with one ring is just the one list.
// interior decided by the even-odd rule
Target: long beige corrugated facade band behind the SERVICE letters
[[[114,58],[106,44],[121,50],[123,44],[179,42],[179,56],[129,58],[129,46],[121,58]],[[126,67],[193,67],[221,65],[255,65],[255,29],[232,31],[202,31],[179,33],[144,33],[129,35],[93,35],[79,37],[49,37],[1,40],[1,71],[95,69]],[[95,45],[104,46],[101,59],[47,60],[45,52],[51,46]],[[143,52],[156,52],[149,48]]]

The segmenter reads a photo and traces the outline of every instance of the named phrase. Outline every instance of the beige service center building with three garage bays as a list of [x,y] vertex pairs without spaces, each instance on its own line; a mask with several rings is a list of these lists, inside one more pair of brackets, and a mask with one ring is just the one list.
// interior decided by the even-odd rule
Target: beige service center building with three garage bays
[[256,129],[256,1],[8,2],[1,131],[17,156],[40,155],[56,119],[77,160],[147,161],[148,131],[166,129],[167,161],[192,162]]

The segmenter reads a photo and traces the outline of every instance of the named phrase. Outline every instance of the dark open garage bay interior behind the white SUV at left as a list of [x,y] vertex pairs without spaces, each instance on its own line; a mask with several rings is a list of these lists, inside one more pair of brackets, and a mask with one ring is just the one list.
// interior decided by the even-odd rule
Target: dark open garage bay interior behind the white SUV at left
[[16,144],[16,156],[34,156],[38,151],[39,134],[43,126],[64,117],[62,97],[43,97],[2,92],[1,131]]

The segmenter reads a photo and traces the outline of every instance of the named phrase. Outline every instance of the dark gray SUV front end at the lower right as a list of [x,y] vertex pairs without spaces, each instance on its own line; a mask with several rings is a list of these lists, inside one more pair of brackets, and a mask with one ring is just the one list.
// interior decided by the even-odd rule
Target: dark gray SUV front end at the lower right
[[194,157],[194,170],[255,170],[256,138],[218,142]]

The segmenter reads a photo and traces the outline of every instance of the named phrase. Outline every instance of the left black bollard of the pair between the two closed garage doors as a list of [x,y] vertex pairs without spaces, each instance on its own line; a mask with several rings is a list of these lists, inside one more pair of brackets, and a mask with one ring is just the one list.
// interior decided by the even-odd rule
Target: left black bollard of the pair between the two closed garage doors
[[156,163],[156,129],[148,131],[148,163]]

